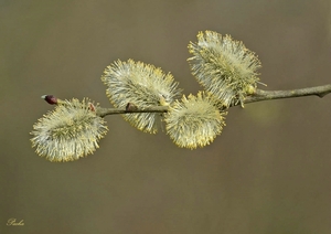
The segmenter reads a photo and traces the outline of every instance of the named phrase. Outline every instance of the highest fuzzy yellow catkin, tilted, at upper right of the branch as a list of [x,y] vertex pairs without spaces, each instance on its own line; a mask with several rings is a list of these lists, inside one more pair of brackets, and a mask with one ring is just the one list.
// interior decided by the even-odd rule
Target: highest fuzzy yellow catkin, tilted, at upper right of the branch
[[197,42],[191,42],[188,47],[193,55],[188,60],[192,74],[225,106],[238,103],[243,106],[245,97],[255,93],[260,62],[243,42],[205,31],[200,32]]

